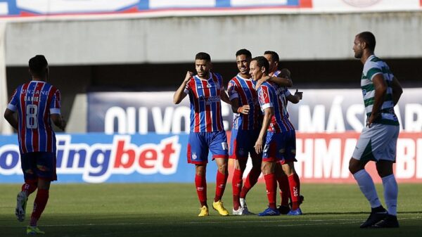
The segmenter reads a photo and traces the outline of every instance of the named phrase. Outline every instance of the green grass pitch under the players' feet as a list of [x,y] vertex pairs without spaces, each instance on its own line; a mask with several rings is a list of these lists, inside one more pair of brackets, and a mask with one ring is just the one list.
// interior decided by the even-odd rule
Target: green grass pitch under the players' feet
[[[377,185],[383,199],[382,186]],[[25,236],[27,219],[15,219],[19,184],[0,185],[0,236]],[[302,184],[301,217],[198,217],[193,184],[53,184],[39,221],[44,236],[421,236],[422,184],[399,184],[399,229],[359,229],[369,205],[356,184]],[[208,185],[212,206],[215,185]],[[279,196],[277,197],[279,198]],[[248,207],[261,212],[267,205],[263,184],[248,194]],[[231,212],[231,184],[224,194]]]

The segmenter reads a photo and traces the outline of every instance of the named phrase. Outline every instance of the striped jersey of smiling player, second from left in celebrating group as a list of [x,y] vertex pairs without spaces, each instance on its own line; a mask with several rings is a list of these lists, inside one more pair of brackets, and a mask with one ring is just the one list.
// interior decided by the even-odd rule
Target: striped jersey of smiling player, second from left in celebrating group
[[230,100],[238,98],[239,107],[249,105],[248,115],[234,113],[233,128],[242,130],[259,129],[262,126],[262,113],[260,111],[260,102],[255,90],[255,82],[252,79],[246,79],[239,75],[230,80],[227,92]]

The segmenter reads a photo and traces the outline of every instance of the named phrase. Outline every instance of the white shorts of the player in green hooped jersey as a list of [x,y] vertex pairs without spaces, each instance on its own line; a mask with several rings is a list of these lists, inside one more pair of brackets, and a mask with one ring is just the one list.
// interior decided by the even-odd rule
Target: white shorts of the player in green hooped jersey
[[352,158],[362,161],[390,160],[395,162],[399,126],[372,124],[364,127]]

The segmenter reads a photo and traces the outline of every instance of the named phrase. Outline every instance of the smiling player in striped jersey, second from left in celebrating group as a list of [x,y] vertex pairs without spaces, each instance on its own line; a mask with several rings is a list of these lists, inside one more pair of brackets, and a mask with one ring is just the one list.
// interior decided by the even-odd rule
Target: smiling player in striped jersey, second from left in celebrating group
[[[258,102],[256,81],[249,75],[249,63],[252,53],[248,49],[236,52],[238,74],[233,77],[227,88],[233,110],[233,127],[231,129],[231,141],[229,158],[234,159],[233,188],[233,214],[251,214],[246,205],[246,194],[254,186],[261,174],[262,154],[257,154],[253,148],[260,133],[262,113]],[[248,156],[252,160],[252,169],[243,184],[243,172],[245,172]]]

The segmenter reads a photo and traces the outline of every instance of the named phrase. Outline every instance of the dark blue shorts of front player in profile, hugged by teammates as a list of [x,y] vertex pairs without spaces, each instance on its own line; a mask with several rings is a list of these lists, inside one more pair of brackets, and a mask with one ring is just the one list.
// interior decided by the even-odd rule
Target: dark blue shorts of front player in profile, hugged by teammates
[[296,156],[296,133],[295,130],[282,133],[267,132],[265,138],[262,160],[268,162],[280,162],[281,165],[287,162],[298,161]]

